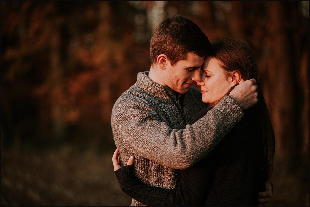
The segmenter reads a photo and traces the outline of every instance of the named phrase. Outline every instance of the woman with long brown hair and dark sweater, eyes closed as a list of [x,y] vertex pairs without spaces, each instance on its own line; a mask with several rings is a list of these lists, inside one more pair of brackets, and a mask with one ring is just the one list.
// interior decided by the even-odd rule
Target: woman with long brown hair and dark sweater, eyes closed
[[[257,195],[265,191],[273,171],[275,138],[254,51],[241,39],[217,40],[201,69],[197,84],[202,101],[210,107],[193,122],[206,115],[242,79],[257,80],[258,103],[244,111],[244,118],[208,156],[180,171],[174,189],[144,185],[131,165],[120,168],[116,151],[113,165],[117,179],[128,196],[145,205],[257,206]],[[133,156],[129,163],[132,161]]]

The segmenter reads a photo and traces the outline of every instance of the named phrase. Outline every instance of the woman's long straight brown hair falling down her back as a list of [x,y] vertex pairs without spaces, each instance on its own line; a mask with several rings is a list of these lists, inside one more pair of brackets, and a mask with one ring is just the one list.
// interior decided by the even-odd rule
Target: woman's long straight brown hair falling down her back
[[266,173],[273,172],[273,156],[275,153],[275,137],[266,100],[263,95],[263,86],[259,80],[259,67],[257,58],[251,46],[239,38],[223,38],[212,43],[210,54],[212,58],[220,61],[221,67],[227,72],[236,71],[242,79],[255,78],[258,86],[258,108],[260,123],[263,130],[265,165],[261,170]]

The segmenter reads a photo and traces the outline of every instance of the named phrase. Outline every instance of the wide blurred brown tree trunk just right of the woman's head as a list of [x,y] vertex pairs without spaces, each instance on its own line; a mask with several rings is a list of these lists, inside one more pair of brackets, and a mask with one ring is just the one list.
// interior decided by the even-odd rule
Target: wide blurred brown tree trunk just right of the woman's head
[[269,61],[269,107],[276,136],[278,155],[289,155],[296,152],[297,87],[294,74],[296,68],[290,4],[294,2],[270,1],[270,21],[267,25],[270,56]]

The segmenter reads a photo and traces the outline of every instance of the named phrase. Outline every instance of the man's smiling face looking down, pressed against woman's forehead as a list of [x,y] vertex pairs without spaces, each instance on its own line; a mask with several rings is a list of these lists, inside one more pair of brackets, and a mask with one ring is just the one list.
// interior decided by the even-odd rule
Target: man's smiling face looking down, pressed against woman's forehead
[[164,77],[165,85],[181,94],[188,92],[194,82],[200,81],[203,60],[204,57],[188,53],[187,60],[180,60],[174,66],[169,64]]

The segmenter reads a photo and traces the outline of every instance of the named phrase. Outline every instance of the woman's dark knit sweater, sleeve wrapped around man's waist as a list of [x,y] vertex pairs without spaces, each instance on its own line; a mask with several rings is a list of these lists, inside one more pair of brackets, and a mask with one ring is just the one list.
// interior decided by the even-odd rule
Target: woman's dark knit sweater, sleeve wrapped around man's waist
[[[194,121],[209,109],[201,111]],[[131,166],[115,172],[122,190],[149,206],[258,206],[258,192],[265,191],[263,141],[256,107],[215,149],[193,167],[181,170],[176,188],[145,185]]]

